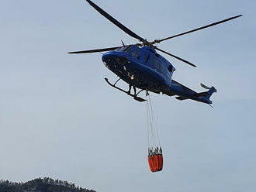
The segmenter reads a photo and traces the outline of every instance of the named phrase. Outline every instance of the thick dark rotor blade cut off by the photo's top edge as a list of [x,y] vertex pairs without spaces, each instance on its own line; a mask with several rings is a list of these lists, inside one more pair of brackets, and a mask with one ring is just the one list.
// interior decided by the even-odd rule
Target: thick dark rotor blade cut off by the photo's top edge
[[125,33],[129,34],[130,36],[133,36],[136,39],[139,39],[141,42],[144,42],[145,39],[138,36],[136,33],[133,33],[130,29],[128,29],[126,26],[123,26],[122,23],[114,19],[111,15],[109,15],[107,12],[105,12],[103,9],[101,9],[98,5],[96,5],[94,2],[90,0],[86,0],[92,7],[94,7],[100,14],[106,17],[106,19],[109,19],[110,22],[118,26],[120,29],[122,29]]

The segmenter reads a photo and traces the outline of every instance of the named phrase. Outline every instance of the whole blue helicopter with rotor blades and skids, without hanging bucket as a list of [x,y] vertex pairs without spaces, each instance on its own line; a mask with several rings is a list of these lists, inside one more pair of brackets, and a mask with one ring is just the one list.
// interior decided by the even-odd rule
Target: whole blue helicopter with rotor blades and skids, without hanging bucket
[[[148,93],[148,91],[151,91],[156,94],[167,94],[168,96],[176,95],[175,98],[177,98],[178,100],[192,99],[209,105],[212,104],[212,101],[210,101],[209,98],[214,92],[216,92],[215,87],[207,87],[206,85],[201,84],[201,86],[208,91],[197,93],[195,91],[192,91],[192,89],[190,89],[189,87],[185,87],[177,81],[172,80],[171,76],[175,72],[175,67],[168,60],[158,54],[156,50],[162,53],[166,53],[169,56],[174,57],[175,59],[182,60],[183,62],[191,65],[192,67],[196,67],[195,64],[190,63],[189,61],[184,60],[181,57],[177,57],[171,53],[161,50],[157,46],[155,46],[155,44],[161,43],[162,41],[168,39],[173,39],[177,36],[183,36],[188,33],[193,33],[201,29],[206,29],[208,27],[227,22],[231,19],[236,19],[242,15],[237,15],[229,19],[224,19],[220,22],[214,22],[207,26],[192,29],[175,36],[169,36],[164,39],[155,39],[154,41],[150,42],[147,41],[147,39],[138,36],[136,33],[133,33],[126,26],[123,26],[122,23],[118,22],[103,9],[99,8],[98,5],[95,5],[94,2],[90,0],[86,1],[90,5],[92,5],[92,7],[96,9],[101,15],[105,16],[106,19],[109,19],[110,22],[118,26],[119,29],[122,29],[125,33],[129,34],[135,39],[138,39],[140,43],[125,45],[122,42],[123,46],[109,47],[97,50],[82,50],[69,53],[79,54],[106,52],[104,54],[102,53],[103,63],[106,65],[107,68],[109,68],[109,70],[112,70],[112,72],[119,77],[119,79],[114,84],[111,84],[107,78],[105,78],[106,82],[110,86],[118,89],[119,91],[123,91],[124,93],[130,95],[137,101],[146,101],[144,98],[140,98],[138,96],[140,92],[147,91]],[[129,88],[127,91],[116,86],[117,82],[121,79],[129,84]],[[132,87],[133,91],[131,91]],[[137,88],[140,89],[140,91],[137,91]]]

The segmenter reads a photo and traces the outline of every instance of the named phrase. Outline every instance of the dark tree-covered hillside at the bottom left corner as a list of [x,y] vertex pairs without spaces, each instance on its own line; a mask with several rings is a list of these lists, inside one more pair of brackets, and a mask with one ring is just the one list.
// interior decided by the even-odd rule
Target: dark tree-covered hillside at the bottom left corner
[[95,192],[81,187],[74,183],[62,180],[53,180],[48,177],[30,180],[26,183],[13,183],[9,180],[0,180],[0,192]]

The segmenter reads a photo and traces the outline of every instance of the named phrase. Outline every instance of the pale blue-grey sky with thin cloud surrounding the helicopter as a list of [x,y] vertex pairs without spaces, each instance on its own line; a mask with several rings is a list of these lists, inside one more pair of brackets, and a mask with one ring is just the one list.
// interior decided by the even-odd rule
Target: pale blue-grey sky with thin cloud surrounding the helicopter
[[243,14],[159,46],[198,66],[163,55],[175,81],[216,87],[214,108],[151,94],[164,170],[150,173],[146,104],[106,84],[117,77],[100,53],[67,54],[137,39],[82,0],[1,0],[0,179],[52,177],[100,192],[256,190],[256,2],[94,2],[148,40]]

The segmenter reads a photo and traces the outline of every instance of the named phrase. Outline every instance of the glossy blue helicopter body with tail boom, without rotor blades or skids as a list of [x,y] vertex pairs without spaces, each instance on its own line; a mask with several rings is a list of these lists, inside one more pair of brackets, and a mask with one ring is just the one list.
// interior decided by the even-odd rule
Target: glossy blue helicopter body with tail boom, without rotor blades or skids
[[171,80],[175,67],[150,46],[122,46],[102,55],[102,61],[109,70],[127,84],[157,94],[178,95],[177,99],[192,99],[211,104],[210,91],[196,93],[188,87]]

